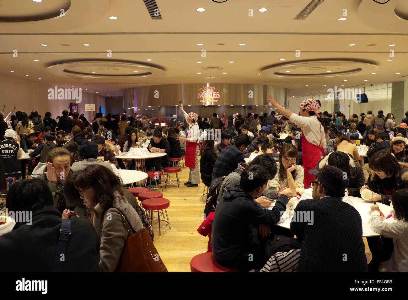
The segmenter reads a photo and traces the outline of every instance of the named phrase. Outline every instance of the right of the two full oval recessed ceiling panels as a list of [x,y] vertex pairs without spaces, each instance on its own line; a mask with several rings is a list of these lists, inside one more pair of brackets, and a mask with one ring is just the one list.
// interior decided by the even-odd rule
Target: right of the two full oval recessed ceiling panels
[[353,76],[372,73],[378,67],[370,62],[353,60],[304,60],[301,62],[284,62],[262,69],[269,78],[315,78]]

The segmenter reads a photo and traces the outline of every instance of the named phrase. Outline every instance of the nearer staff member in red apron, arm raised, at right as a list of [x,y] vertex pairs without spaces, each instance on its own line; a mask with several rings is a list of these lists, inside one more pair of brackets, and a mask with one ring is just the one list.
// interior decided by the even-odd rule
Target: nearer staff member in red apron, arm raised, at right
[[314,99],[306,99],[300,103],[298,116],[295,113],[280,106],[268,93],[268,102],[276,107],[284,117],[295,123],[297,126],[303,127],[302,130],[302,162],[305,170],[303,184],[305,189],[310,187],[310,182],[315,178],[309,174],[309,170],[315,169],[317,162],[326,155],[326,137],[322,123],[317,120],[317,109],[320,108],[319,103]]

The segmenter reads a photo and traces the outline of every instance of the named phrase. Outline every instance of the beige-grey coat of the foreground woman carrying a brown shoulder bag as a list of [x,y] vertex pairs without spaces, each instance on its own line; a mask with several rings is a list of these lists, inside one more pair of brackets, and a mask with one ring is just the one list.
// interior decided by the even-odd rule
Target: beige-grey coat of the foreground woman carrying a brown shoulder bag
[[[124,213],[133,231],[142,229],[142,221],[128,200],[117,191],[114,195],[113,206]],[[98,213],[93,216],[92,223],[100,239],[99,271],[113,272],[118,265],[128,233],[118,209],[111,207],[104,211],[98,203],[94,210]]]

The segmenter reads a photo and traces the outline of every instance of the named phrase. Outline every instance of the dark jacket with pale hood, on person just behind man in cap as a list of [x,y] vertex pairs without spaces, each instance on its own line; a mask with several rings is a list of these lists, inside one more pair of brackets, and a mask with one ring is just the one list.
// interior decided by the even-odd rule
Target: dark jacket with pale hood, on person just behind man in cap
[[[350,159],[350,171],[347,173],[348,177],[348,196],[353,196],[353,197],[360,197],[360,189],[361,187],[365,184],[366,180],[364,178],[364,173],[363,173],[363,168],[361,167],[360,164],[357,164],[355,161],[354,157],[348,154],[346,151],[341,151],[344,152],[348,155],[348,158]],[[333,153],[333,152],[332,152]],[[319,162],[316,165],[316,171],[320,171],[325,165],[327,165],[328,158],[330,156],[329,153],[326,155],[324,158],[319,160]]]

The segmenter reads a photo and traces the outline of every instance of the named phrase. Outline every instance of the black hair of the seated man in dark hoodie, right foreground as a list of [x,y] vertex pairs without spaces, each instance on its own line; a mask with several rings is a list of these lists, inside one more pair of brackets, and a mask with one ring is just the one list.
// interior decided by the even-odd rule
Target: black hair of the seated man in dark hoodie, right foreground
[[[269,155],[268,157],[272,159]],[[271,174],[261,165],[250,164],[242,171],[239,188],[242,191],[249,193],[257,187],[264,186],[266,182],[268,182],[270,175]]]

